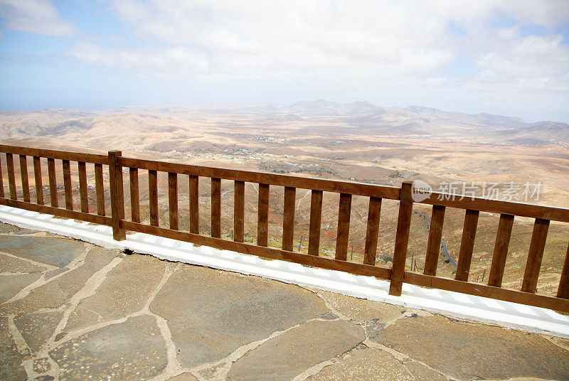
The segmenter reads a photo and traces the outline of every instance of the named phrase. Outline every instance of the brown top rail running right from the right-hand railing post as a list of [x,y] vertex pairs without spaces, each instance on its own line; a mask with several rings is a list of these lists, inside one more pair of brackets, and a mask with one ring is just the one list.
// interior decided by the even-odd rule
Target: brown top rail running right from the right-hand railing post
[[[454,196],[454,199],[453,199]],[[450,197],[450,198],[449,198]],[[449,208],[460,208],[478,210],[480,212],[501,213],[509,215],[518,215],[521,217],[541,218],[542,220],[553,220],[560,222],[569,222],[569,209],[557,208],[553,206],[544,206],[528,203],[514,203],[503,200],[490,200],[488,198],[470,197],[462,195],[452,195],[448,193],[436,193],[422,201],[420,204],[441,205]]]

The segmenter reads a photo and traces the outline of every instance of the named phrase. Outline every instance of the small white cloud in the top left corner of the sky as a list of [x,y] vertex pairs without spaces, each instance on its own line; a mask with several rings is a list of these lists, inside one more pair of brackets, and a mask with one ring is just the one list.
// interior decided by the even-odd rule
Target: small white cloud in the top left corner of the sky
[[46,36],[65,36],[75,31],[48,0],[0,0],[0,17],[6,19],[7,28],[15,31]]

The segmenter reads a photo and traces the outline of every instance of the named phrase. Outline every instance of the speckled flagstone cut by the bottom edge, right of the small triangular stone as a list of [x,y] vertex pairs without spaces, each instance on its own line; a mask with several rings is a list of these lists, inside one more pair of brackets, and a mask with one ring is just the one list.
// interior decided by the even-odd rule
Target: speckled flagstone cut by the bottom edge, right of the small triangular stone
[[166,345],[156,319],[143,315],[66,341],[49,355],[59,380],[148,380],[166,368]]

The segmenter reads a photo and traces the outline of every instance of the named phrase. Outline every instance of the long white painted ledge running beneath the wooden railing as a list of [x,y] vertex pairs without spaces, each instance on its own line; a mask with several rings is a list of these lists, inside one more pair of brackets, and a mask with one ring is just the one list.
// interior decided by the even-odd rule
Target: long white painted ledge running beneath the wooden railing
[[44,230],[73,237],[102,247],[131,249],[134,252],[150,254],[169,261],[257,275],[371,301],[419,308],[457,318],[569,338],[569,316],[561,315],[546,308],[525,306],[452,291],[425,289],[411,284],[403,284],[401,296],[390,296],[388,294],[389,282],[375,277],[363,277],[335,270],[304,267],[301,264],[279,260],[268,261],[252,255],[206,246],[195,247],[188,242],[138,232],[127,234],[127,239],[124,241],[115,241],[112,239],[112,229],[107,226],[55,218],[51,215],[9,206],[0,206],[0,221],[18,227]]

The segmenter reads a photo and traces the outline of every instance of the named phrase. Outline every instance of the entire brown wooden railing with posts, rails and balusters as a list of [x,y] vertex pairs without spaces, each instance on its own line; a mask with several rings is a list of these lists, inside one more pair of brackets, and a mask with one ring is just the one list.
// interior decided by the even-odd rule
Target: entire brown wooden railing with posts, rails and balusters
[[[0,166],[0,205],[34,210],[65,218],[95,222],[112,226],[115,240],[124,240],[126,231],[144,232],[160,237],[193,242],[218,249],[254,254],[260,257],[282,259],[314,267],[334,269],[352,274],[368,275],[390,280],[391,295],[399,296],[404,282],[436,289],[485,296],[504,301],[541,306],[558,311],[569,312],[569,248],[565,254],[563,270],[555,296],[536,293],[536,286],[545,247],[548,226],[551,220],[569,222],[569,209],[552,208],[541,205],[511,203],[482,198],[447,198],[440,193],[432,193],[420,203],[432,205],[425,267],[421,273],[405,270],[410,221],[413,213],[412,184],[405,182],[400,188],[376,186],[365,183],[304,178],[275,173],[237,171],[225,168],[193,166],[163,161],[151,161],[122,156],[120,151],[110,151],[108,156],[82,154],[68,151],[32,149],[27,147],[0,145],[0,152],[6,156],[9,197],[4,193]],[[21,195],[18,200],[14,176],[14,155],[19,156],[21,171]],[[33,157],[36,202],[31,201],[28,184],[27,157]],[[50,206],[44,204],[41,177],[41,158],[47,159],[49,174]],[[55,159],[60,159],[63,166],[65,209],[58,205],[57,181],[55,178]],[[80,192],[80,211],[74,210],[73,189],[71,186],[70,161],[78,162]],[[95,166],[95,193],[97,212],[89,209],[87,196],[87,163]],[[105,195],[102,166],[108,166],[111,217],[105,215]],[[129,168],[129,196],[131,216],[124,216],[123,168]],[[142,223],[139,208],[139,170],[148,171],[149,183],[149,223]],[[169,227],[159,226],[158,208],[158,173],[168,173]],[[189,224],[188,230],[180,228],[178,213],[178,183],[183,176],[188,181],[189,189]],[[211,178],[211,235],[199,231],[198,183],[200,178]],[[233,240],[221,237],[221,180],[234,182]],[[258,184],[257,206],[257,244],[244,242],[245,183]],[[271,186],[285,188],[284,214],[282,220],[282,247],[268,247],[269,191]],[[295,252],[293,249],[294,212],[297,188],[312,192],[309,220],[308,254]],[[336,252],[334,258],[320,257],[320,229],[323,192],[339,193],[339,218],[336,234]],[[351,200],[353,195],[369,198],[368,221],[365,249],[361,263],[347,260],[348,237],[350,228]],[[383,198],[399,201],[395,250],[391,268],[376,265],[378,228]],[[462,241],[459,249],[457,272],[454,279],[437,277],[437,262],[440,252],[442,226],[447,207],[466,210]],[[479,213],[499,213],[500,220],[494,246],[494,256],[488,284],[469,281],[469,269],[472,262],[474,237],[477,232]],[[501,288],[504,277],[506,255],[508,253],[514,216],[535,219],[533,235],[528,252],[526,271],[521,290]]]

